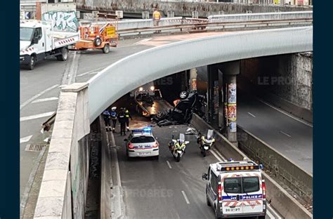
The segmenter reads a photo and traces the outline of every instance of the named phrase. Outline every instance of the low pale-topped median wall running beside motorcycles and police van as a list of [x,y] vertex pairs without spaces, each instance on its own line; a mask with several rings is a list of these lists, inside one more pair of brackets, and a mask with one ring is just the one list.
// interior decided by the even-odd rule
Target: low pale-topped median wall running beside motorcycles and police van
[[[214,129],[209,124],[198,117],[193,115],[192,126],[195,126],[198,131],[202,133],[207,132],[208,129]],[[229,142],[223,135],[215,131],[216,135],[216,149],[223,154],[224,157],[233,158],[235,160],[242,160],[247,157],[235,145]],[[237,138],[245,138],[244,133],[237,135]],[[306,210],[298,201],[294,199],[286,190],[284,190],[278,183],[276,183],[269,175],[263,173],[263,178],[266,182],[267,199],[271,201],[271,205],[282,215],[283,218],[299,219],[299,218],[312,218],[312,214]]]

